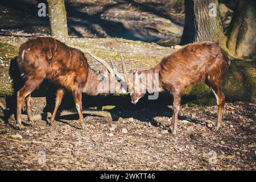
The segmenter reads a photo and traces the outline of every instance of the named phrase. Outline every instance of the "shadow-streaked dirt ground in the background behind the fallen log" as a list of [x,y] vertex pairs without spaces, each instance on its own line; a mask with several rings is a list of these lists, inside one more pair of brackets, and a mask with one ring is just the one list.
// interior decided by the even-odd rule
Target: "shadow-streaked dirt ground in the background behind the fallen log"
[[[39,17],[38,0],[0,2],[0,34],[49,35],[47,17]],[[17,6],[18,5],[18,6]],[[69,36],[84,38],[124,38],[178,43],[184,23],[180,1],[70,0],[65,1]],[[157,8],[156,8],[157,7]]]

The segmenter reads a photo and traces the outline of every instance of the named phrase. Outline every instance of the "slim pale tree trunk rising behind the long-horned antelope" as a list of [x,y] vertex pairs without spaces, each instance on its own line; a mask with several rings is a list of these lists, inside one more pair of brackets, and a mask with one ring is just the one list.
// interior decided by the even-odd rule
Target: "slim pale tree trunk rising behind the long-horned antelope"
[[51,36],[68,44],[67,13],[64,0],[47,0]]

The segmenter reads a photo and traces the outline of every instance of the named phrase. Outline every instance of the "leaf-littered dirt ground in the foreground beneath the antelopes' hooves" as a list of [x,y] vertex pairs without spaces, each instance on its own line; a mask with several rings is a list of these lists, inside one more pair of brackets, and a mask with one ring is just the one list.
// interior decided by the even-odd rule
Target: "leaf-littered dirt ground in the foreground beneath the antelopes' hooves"
[[[33,114],[45,105],[32,98]],[[168,131],[168,106],[117,107],[118,121],[63,116],[53,126],[40,120],[23,131],[0,118],[1,170],[255,170],[255,104],[226,104],[220,131],[213,131],[217,106],[180,110],[177,135]],[[24,121],[26,123],[26,121]],[[215,153],[216,152],[216,153]],[[216,158],[214,158],[216,156]]]

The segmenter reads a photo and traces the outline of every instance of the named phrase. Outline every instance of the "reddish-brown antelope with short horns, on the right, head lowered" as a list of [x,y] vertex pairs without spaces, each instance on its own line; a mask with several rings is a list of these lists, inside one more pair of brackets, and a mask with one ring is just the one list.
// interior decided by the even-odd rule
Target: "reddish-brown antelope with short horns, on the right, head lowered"
[[[172,133],[176,134],[178,112],[184,89],[191,84],[205,82],[217,100],[218,120],[215,130],[218,130],[221,126],[225,101],[224,93],[221,90],[221,80],[229,64],[228,56],[218,44],[211,42],[188,44],[171,55],[165,56],[154,68],[136,71],[133,74],[133,81],[138,80],[141,86],[138,87],[129,81],[131,102],[136,104],[139,98],[146,93],[144,90],[150,93],[159,92],[159,90],[172,93],[174,102],[170,127]],[[125,73],[127,72],[125,71]],[[153,73],[159,76],[143,79],[146,75]]]

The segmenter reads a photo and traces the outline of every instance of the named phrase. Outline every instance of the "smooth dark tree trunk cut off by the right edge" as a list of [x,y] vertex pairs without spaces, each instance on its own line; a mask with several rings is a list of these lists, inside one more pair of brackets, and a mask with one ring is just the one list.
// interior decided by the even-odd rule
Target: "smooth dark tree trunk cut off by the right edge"
[[240,59],[256,59],[256,1],[239,0],[228,28],[227,47]]

